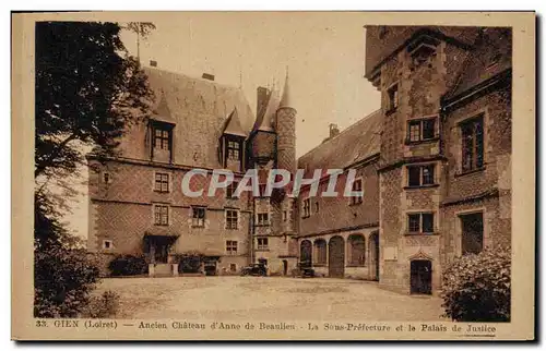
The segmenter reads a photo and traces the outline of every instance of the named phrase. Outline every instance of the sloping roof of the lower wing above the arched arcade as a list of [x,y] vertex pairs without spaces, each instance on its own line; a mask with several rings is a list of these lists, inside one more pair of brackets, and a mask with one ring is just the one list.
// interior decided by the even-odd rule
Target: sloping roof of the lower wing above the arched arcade
[[298,168],[309,178],[314,169],[345,168],[378,154],[381,117],[381,110],[377,110],[324,141],[298,159]]

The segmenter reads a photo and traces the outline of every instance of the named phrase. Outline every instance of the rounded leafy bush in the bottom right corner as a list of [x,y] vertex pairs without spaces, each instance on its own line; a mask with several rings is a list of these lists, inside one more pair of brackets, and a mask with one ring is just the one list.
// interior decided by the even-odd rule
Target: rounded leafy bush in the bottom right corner
[[510,322],[510,250],[455,259],[442,275],[444,316],[455,322]]

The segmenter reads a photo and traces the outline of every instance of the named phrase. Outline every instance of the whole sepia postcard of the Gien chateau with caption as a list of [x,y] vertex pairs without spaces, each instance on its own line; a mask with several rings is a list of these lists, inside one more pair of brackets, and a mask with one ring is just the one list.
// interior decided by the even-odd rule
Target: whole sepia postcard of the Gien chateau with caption
[[12,28],[13,339],[535,338],[533,12]]

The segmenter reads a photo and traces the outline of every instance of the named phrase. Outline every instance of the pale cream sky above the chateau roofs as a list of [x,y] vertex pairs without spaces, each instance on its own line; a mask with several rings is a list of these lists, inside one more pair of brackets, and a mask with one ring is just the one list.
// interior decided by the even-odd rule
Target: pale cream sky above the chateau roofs
[[[171,72],[214,74],[221,84],[241,87],[254,112],[257,87],[282,89],[288,71],[298,157],[328,137],[330,123],[343,131],[380,107],[379,92],[364,77],[366,23],[359,13],[178,12],[141,21],[156,26],[141,40],[143,65],[154,60]],[[136,35],[124,32],[121,39],[136,56]],[[80,190],[66,221],[86,238],[86,186]]]

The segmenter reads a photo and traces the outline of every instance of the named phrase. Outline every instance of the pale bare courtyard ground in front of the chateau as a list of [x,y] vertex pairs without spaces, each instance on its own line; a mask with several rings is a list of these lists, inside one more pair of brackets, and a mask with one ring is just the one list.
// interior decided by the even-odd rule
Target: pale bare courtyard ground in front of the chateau
[[117,318],[441,320],[441,300],[385,291],[377,282],[332,278],[109,278],[97,293],[120,294]]

